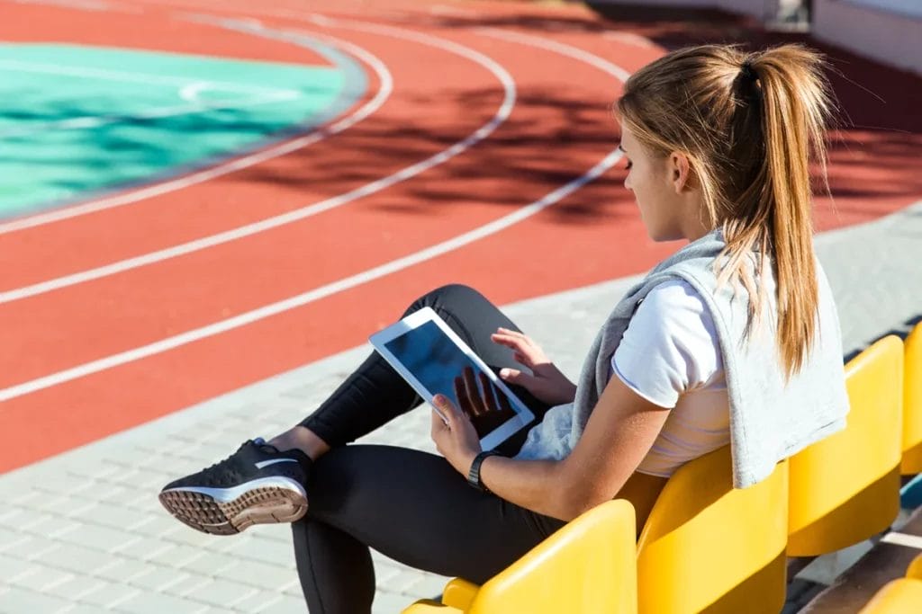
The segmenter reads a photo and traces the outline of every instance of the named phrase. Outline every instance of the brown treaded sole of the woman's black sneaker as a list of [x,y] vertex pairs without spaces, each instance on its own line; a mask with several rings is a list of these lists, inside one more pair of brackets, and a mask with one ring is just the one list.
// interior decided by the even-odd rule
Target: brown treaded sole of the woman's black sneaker
[[160,504],[183,524],[211,535],[235,535],[254,525],[295,522],[307,513],[303,492],[278,486],[246,490],[230,501],[177,488],[160,492]]

